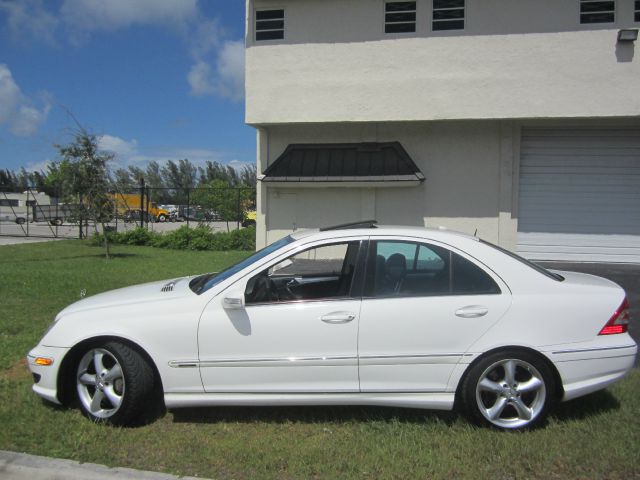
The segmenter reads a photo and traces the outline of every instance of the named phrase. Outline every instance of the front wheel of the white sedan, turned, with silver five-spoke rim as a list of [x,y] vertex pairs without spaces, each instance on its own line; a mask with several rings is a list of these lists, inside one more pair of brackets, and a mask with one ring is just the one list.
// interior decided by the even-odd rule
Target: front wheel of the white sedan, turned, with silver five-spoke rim
[[[97,372],[96,365],[101,365],[102,372]],[[87,349],[79,356],[74,373],[80,409],[94,422],[135,426],[157,410],[152,366],[123,343],[111,341]]]

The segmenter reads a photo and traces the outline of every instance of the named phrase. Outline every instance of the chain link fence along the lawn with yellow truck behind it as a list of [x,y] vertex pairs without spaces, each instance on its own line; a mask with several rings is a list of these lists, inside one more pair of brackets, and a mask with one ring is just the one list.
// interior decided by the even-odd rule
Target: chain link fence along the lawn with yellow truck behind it
[[[169,231],[206,224],[216,231],[255,225],[255,188],[155,188],[144,183],[109,192],[105,228]],[[0,236],[86,238],[101,230],[77,195],[9,191],[0,185]]]

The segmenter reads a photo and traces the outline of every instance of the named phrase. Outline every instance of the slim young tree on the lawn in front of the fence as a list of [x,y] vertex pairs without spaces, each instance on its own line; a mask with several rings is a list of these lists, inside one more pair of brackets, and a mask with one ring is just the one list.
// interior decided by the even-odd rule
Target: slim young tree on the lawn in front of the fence
[[67,145],[55,145],[62,157],[57,163],[59,181],[65,192],[78,197],[80,221],[93,220],[96,233],[102,226],[105,257],[109,258],[109,239],[106,223],[113,215],[113,200],[109,195],[110,182],[107,163],[112,154],[98,151],[98,140],[84,128],[74,134]]

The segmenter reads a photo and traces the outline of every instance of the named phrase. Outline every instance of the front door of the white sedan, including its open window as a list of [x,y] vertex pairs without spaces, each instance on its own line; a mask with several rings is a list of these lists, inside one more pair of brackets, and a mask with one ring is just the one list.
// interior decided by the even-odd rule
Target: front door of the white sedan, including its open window
[[198,332],[205,391],[358,391],[360,244],[307,246],[214,298]]

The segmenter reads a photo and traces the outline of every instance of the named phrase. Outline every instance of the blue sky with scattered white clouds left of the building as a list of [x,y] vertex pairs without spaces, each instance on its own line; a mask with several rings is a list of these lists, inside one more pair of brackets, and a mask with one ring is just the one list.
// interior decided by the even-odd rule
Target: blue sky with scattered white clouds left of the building
[[0,168],[56,159],[75,117],[112,167],[253,163],[244,0],[0,0]]

